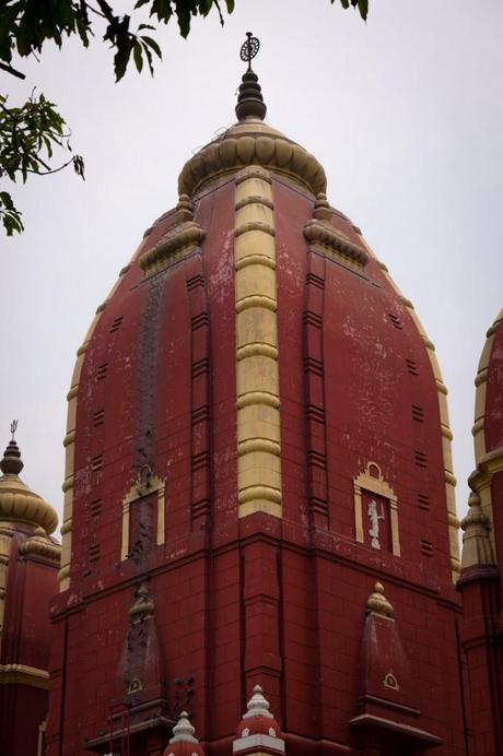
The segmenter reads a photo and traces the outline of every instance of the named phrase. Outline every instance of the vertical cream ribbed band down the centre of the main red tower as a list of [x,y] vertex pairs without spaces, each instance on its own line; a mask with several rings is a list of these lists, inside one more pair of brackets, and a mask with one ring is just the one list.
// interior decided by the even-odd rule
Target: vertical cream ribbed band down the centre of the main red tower
[[236,177],[235,223],[238,516],[282,516],[276,229],[269,175]]

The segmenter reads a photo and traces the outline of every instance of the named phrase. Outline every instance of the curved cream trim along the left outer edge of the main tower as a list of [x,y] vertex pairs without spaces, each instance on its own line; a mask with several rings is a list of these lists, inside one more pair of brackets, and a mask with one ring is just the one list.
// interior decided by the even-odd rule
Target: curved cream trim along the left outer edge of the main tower
[[[142,243],[143,244],[143,243]],[[138,247],[137,251],[131,258],[134,260],[138,252],[140,251]],[[117,279],[115,285],[113,286],[106,302],[109,302],[118,288],[120,281],[124,275],[130,269],[131,263],[121,269],[119,277]],[[96,315],[85,334],[85,339],[82,345],[77,351],[77,362],[73,368],[73,374],[71,378],[70,390],[67,394],[68,410],[67,410],[67,433],[63,440],[63,447],[66,450],[65,456],[65,481],[62,484],[62,491],[65,494],[63,499],[63,520],[61,524],[61,569],[58,572],[59,590],[67,591],[70,588],[70,560],[71,560],[71,523],[73,516],[73,474],[75,465],[75,434],[77,434],[77,402],[79,395],[79,382],[82,373],[82,366],[84,364],[85,352],[87,350],[89,343],[93,336],[96,326],[102,317],[103,308],[98,307]]]

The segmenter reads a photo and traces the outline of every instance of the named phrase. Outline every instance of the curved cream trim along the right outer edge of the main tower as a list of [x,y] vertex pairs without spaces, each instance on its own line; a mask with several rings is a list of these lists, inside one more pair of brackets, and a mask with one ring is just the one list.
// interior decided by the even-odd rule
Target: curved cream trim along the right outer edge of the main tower
[[[362,244],[365,245],[365,248],[367,249],[371,257],[373,257],[376,260],[376,257],[374,252],[372,251],[371,247],[367,245],[367,243],[362,238]],[[412,321],[414,322],[416,328],[419,331],[419,334],[421,335],[424,346],[426,349],[426,354],[430,359],[430,364],[432,366],[433,370],[433,376],[435,378],[435,383],[436,383],[436,395],[438,400],[438,412],[440,412],[440,420],[441,420],[441,434],[442,434],[442,456],[443,456],[443,462],[444,462],[444,479],[445,479],[445,499],[447,504],[447,527],[448,527],[448,538],[449,538],[449,553],[451,553],[451,574],[453,578],[453,582],[456,582],[458,577],[459,577],[459,569],[460,569],[460,556],[459,556],[459,520],[457,518],[457,512],[456,512],[456,494],[455,494],[455,486],[456,486],[456,479],[453,473],[453,453],[452,453],[452,448],[451,448],[451,441],[453,439],[453,433],[451,430],[449,426],[449,418],[448,418],[448,409],[447,409],[447,387],[445,386],[443,379],[442,379],[442,374],[441,369],[438,366],[438,361],[436,359],[435,355],[435,346],[434,344],[430,341],[428,338],[424,328],[418,318],[416,310],[412,306],[412,303],[403,297],[403,294],[395,283],[395,281],[391,279],[389,275],[388,269],[386,265],[378,260],[377,264],[379,265],[381,270],[383,271],[384,276],[393,287],[393,290],[396,292],[398,297],[400,297],[402,304],[407,307],[407,310],[412,318]]]

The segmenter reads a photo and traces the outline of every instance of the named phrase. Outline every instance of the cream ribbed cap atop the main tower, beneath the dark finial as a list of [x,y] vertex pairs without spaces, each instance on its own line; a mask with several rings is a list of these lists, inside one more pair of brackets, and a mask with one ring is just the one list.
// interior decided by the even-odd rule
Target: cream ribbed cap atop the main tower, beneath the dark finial
[[[245,166],[274,172],[313,194],[326,190],[325,172],[316,157],[264,121],[253,118],[231,127],[196,153],[179,175],[178,190],[192,197],[204,186]],[[261,197],[255,192],[248,194],[256,196]],[[266,200],[271,201],[269,197]]]

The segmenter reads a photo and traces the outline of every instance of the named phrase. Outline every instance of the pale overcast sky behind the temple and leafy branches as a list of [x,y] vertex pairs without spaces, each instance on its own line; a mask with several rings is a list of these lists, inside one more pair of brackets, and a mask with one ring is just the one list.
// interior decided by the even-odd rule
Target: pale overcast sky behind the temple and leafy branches
[[26,232],[0,235],[0,442],[19,417],[24,480],[59,512],[75,351],[143,231],[176,203],[184,162],[234,121],[247,31],[261,40],[268,121],[323,163],[330,202],[436,345],[464,511],[473,377],[502,306],[503,3],[370,4],[365,25],[337,0],[236,0],[223,29],[215,13],[188,40],[161,29],[153,80],[131,67],[115,85],[98,40],[47,47],[25,83],[3,76],[12,104],[34,85],[58,104],[86,166],[85,182],[67,170],[16,188]]

